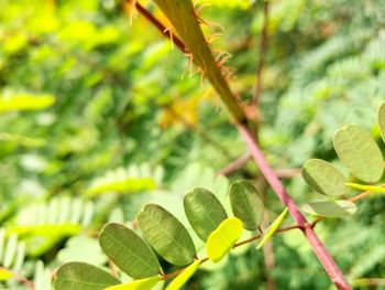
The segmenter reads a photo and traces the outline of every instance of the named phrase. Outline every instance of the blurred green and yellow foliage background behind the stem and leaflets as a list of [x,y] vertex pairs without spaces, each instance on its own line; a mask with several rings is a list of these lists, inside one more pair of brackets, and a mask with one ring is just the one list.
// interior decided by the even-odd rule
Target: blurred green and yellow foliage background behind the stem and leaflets
[[[212,46],[232,55],[230,85],[248,103],[263,2],[206,2],[202,19],[224,28]],[[106,222],[130,224],[146,202],[184,219],[182,197],[194,186],[226,196],[230,181],[258,179],[252,162],[216,174],[246,152],[243,141],[210,85],[189,77],[187,57],[143,17],[130,25],[129,13],[120,0],[0,0],[0,265],[38,290],[52,289],[65,261],[106,265],[96,238]],[[334,161],[333,132],[349,122],[381,139],[383,0],[272,0],[268,32],[260,139],[275,169]],[[258,180],[274,216],[282,205]],[[298,204],[318,197],[298,175],[285,185]],[[360,280],[385,279],[384,210],[384,198],[364,201],[351,219],[317,226],[361,289],[385,289]],[[267,289],[267,277],[276,289],[330,287],[300,233],[276,236],[274,258],[266,270],[263,253],[246,247],[187,289]],[[26,289],[2,276],[2,289]]]

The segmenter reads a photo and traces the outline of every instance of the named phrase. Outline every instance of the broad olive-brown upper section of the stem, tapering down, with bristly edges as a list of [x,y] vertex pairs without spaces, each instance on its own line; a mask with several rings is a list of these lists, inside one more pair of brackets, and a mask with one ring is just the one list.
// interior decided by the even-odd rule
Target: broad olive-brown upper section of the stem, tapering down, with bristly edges
[[207,44],[195,15],[191,0],[154,0],[154,2],[172,22],[173,28],[182,37],[188,51],[193,54],[194,62],[201,68],[202,74],[221,96],[226,106],[230,108],[235,120],[244,120],[244,112],[239,107],[237,97],[231,93]]

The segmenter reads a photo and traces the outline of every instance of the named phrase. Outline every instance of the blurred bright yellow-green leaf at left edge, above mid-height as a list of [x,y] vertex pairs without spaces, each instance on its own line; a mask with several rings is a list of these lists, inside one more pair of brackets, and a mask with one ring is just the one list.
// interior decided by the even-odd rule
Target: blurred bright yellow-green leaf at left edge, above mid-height
[[55,97],[51,95],[33,96],[18,94],[13,96],[0,96],[0,112],[16,110],[41,110],[52,106]]

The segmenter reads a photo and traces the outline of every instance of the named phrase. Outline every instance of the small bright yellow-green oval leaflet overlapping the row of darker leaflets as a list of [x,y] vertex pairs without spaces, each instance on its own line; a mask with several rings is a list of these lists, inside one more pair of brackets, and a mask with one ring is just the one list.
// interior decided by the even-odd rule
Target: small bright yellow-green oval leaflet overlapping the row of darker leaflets
[[207,239],[207,255],[213,262],[220,261],[234,246],[242,234],[242,221],[229,217]]

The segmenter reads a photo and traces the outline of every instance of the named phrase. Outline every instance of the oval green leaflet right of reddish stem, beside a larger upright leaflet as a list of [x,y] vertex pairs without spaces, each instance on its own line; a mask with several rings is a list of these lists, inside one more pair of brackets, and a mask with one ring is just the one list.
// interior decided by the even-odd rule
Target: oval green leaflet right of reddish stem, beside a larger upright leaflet
[[331,163],[321,159],[308,160],[301,170],[305,181],[317,192],[330,196],[345,193],[345,179]]

